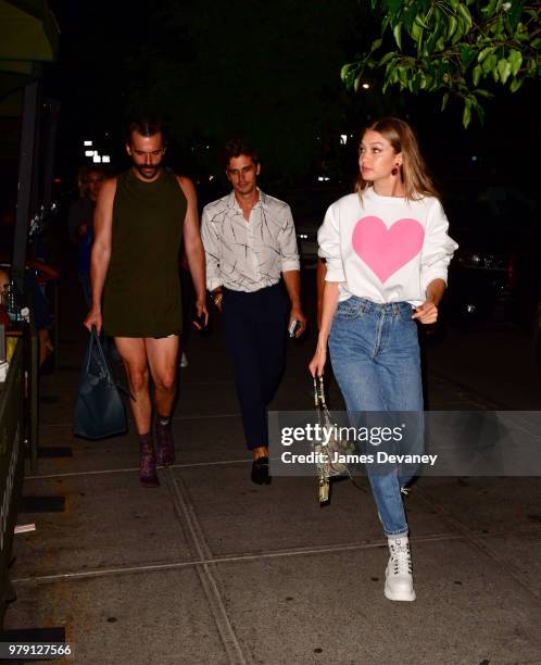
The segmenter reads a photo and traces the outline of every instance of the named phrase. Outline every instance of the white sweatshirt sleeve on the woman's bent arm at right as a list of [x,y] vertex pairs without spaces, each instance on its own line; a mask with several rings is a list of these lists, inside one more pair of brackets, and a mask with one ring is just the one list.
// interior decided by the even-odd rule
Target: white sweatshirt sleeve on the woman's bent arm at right
[[448,268],[458,244],[449,236],[449,222],[441,203],[436,200],[427,221],[425,244],[420,256],[420,286],[426,292],[435,279],[448,283]]

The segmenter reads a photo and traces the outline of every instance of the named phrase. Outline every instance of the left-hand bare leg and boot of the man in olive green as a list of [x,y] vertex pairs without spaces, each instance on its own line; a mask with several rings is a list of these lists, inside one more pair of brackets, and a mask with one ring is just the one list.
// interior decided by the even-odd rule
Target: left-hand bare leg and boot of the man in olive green
[[115,337],[116,349],[121,354],[128,386],[135,398],[130,400],[131,412],[139,435],[139,480],[143,487],[158,487],[156,459],[150,431],[152,405],[149,393],[149,366],[144,339],[136,337]]

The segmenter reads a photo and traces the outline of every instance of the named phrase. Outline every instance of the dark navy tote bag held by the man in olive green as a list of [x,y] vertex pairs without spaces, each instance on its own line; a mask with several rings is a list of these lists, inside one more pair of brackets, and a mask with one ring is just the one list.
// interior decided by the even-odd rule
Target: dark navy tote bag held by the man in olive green
[[73,434],[104,439],[127,429],[126,410],[92,326],[75,399]]

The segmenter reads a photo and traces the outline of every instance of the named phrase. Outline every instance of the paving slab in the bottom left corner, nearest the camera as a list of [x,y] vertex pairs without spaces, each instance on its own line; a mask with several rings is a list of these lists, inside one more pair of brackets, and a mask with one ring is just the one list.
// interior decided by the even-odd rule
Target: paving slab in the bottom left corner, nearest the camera
[[70,663],[227,663],[193,569],[17,585],[4,628],[64,626]]

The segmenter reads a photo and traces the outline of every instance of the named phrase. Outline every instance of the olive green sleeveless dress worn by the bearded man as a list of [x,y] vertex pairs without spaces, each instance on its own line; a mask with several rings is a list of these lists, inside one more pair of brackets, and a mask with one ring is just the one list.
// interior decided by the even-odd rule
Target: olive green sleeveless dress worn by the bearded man
[[181,330],[179,252],[187,200],[175,174],[152,183],[130,168],[116,180],[103,329],[112,337],[166,337]]

